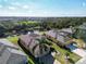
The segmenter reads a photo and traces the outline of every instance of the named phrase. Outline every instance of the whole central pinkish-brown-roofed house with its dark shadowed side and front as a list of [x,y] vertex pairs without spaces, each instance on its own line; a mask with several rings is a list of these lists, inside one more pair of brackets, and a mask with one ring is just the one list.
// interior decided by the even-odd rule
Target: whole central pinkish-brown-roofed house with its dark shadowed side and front
[[42,37],[45,36],[37,34],[23,35],[20,37],[19,44],[39,64],[53,64],[54,60],[50,54],[50,48],[39,46],[40,42],[37,39],[41,39]]

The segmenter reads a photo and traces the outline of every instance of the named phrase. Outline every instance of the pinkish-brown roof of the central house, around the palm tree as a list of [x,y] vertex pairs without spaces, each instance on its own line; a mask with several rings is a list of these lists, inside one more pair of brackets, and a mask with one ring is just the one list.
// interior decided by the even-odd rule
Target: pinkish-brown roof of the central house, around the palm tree
[[20,37],[20,43],[27,49],[32,55],[35,57],[42,56],[49,52],[49,49],[40,50],[41,48],[38,46],[39,41],[37,39],[41,39],[44,36],[37,34],[22,35]]

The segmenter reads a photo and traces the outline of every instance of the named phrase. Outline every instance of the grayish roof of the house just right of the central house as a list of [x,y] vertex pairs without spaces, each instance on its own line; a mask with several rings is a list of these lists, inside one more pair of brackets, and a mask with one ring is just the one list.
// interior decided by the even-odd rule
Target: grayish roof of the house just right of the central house
[[49,35],[49,36],[51,36],[51,37],[53,37],[53,38],[56,38],[57,37],[57,40],[59,40],[60,42],[62,42],[62,43],[65,43],[70,38],[67,37],[67,33],[64,33],[64,31],[62,31],[62,30],[58,30],[58,31],[56,31],[56,30],[49,30],[48,33],[47,33],[47,35]]

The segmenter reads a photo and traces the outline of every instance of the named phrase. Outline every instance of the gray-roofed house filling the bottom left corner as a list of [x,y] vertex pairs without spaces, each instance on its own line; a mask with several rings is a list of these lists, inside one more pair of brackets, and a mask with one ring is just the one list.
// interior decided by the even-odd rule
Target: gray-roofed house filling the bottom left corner
[[25,64],[27,56],[7,39],[0,39],[0,64]]

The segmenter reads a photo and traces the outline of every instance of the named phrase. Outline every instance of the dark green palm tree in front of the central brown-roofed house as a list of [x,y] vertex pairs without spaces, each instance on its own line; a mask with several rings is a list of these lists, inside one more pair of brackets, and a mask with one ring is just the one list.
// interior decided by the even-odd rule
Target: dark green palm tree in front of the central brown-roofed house
[[46,55],[47,53],[49,53],[49,51],[50,51],[50,48],[49,48],[49,46],[48,46],[48,42],[47,42],[47,40],[46,40],[46,38],[45,37],[41,37],[40,39],[38,38],[38,39],[36,39],[39,43],[37,43],[34,48],[33,48],[33,52],[35,53],[35,49],[37,48],[37,47],[39,47],[39,54],[38,54],[38,63],[40,64],[41,63],[41,61],[40,61],[40,57],[41,56],[44,56],[44,55]]

